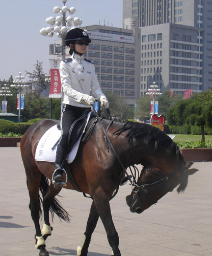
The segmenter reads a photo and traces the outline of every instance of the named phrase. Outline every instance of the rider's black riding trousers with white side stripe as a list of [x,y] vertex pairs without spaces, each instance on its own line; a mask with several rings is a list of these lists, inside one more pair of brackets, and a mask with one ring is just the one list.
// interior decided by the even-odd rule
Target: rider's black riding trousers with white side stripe
[[81,108],[78,106],[71,106],[68,104],[64,104],[62,114],[61,114],[61,139],[60,146],[64,148],[64,150],[68,151],[68,134],[71,125],[73,122],[80,118],[85,110],[90,108]]

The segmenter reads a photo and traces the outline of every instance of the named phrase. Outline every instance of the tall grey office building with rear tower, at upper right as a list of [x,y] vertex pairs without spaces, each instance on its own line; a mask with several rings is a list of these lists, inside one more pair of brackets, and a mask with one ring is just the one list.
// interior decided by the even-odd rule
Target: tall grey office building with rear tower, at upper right
[[212,87],[212,0],[123,0],[123,27],[141,31],[140,95]]

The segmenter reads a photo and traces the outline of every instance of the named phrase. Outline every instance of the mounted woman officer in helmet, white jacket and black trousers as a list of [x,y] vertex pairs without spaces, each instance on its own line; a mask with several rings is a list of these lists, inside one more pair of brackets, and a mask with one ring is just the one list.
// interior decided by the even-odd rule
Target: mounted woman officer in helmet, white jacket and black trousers
[[85,110],[91,109],[95,99],[105,109],[109,108],[109,102],[100,89],[94,63],[84,58],[90,42],[87,32],[80,28],[69,30],[65,37],[65,44],[70,47],[71,57],[63,59],[60,63],[64,106],[60,122],[61,138],[56,153],[55,173],[52,177],[52,183],[57,185],[64,185],[62,163],[68,150],[68,133],[72,123],[80,118]]

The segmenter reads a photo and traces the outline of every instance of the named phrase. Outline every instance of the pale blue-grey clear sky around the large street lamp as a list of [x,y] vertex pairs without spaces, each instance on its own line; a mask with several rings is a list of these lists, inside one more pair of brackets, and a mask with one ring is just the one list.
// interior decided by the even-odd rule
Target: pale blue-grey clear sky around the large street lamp
[[[46,18],[61,15],[53,12],[55,6],[62,8],[62,0],[0,0],[0,80],[7,80],[11,75],[15,78],[19,72],[21,76],[25,71],[32,72],[37,60],[48,74],[48,59],[54,58],[48,54],[48,46],[58,37],[42,36],[39,31],[49,26]],[[99,24],[122,27],[123,0],[68,0],[66,6],[75,7],[75,13],[66,16],[81,18],[82,27]]]

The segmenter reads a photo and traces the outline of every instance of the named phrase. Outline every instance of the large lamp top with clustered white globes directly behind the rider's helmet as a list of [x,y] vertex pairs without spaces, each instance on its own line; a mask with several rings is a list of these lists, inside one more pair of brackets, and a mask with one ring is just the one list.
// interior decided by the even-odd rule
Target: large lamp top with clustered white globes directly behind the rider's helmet
[[[74,14],[76,9],[74,7],[68,8],[65,4],[67,0],[62,0],[63,2],[63,7],[60,8],[58,6],[55,6],[53,9],[54,13],[59,13],[62,16],[57,16],[56,18],[54,17],[48,17],[46,18],[46,23],[55,26],[54,28],[47,27],[47,28],[42,28],[40,30],[40,34],[43,36],[49,36],[52,37],[54,35],[54,32],[57,33],[57,37],[61,38],[61,46],[59,45],[49,45],[49,51],[50,51],[50,46],[53,46],[53,50],[51,49],[51,54],[56,54],[56,53],[61,53],[62,58],[65,58],[65,35],[68,30],[68,27],[71,27],[72,24],[74,26],[80,26],[83,23],[83,20],[78,17],[71,17],[68,16],[66,17],[66,12],[69,12],[69,14]],[[72,28],[71,28],[72,29]]]

